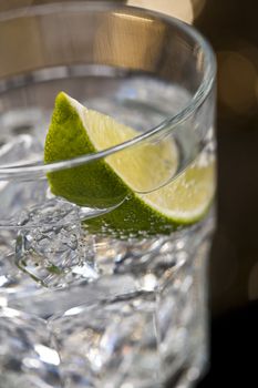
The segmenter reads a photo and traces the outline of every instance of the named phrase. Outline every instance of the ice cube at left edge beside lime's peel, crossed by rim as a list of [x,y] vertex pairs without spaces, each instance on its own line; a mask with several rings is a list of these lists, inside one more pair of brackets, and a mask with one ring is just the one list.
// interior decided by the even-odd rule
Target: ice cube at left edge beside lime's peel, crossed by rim
[[[0,118],[0,167],[41,164],[43,142],[37,135],[37,123],[42,119],[37,110],[8,112]],[[0,224],[17,225],[17,214],[45,198],[47,180],[25,182],[7,177],[0,181]],[[3,176],[2,176],[3,178]]]

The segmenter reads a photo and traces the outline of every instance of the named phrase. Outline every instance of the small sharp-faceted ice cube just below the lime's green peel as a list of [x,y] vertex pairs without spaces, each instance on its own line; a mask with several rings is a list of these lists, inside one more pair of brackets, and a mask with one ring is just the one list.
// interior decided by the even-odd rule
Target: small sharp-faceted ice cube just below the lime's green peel
[[91,242],[82,242],[78,206],[49,200],[23,212],[20,225],[16,262],[33,279],[45,287],[62,288],[76,280],[97,278]]

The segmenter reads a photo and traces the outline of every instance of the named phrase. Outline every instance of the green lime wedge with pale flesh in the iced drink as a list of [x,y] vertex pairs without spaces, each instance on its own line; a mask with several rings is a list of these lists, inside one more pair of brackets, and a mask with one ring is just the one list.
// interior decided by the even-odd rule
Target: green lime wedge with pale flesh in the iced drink
[[[138,134],[60,92],[45,139],[44,162],[93,154]],[[199,221],[214,196],[214,162],[198,159],[162,186],[176,172],[177,163],[177,147],[169,137],[144,141],[105,159],[51,172],[48,178],[53,194],[78,205],[104,208],[121,202],[111,212],[85,221],[95,232],[167,234]],[[159,188],[144,194],[147,187]]]

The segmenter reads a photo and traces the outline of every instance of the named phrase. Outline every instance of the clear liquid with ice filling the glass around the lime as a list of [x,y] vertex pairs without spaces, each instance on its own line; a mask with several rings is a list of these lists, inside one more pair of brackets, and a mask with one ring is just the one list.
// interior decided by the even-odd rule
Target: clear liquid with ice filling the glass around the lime
[[[0,120],[1,163],[42,161],[53,90],[76,91],[89,108],[138,131],[157,125],[189,99],[182,89],[143,76],[13,89],[2,96],[9,112]],[[178,132],[182,161],[189,162],[193,145],[200,152],[197,137]],[[211,157],[213,139],[202,146],[203,157]],[[193,384],[206,357],[211,213],[171,236],[123,241],[89,234],[81,221],[96,213],[54,198],[47,181],[0,182],[0,304],[22,312],[1,312],[4,388],[14,387],[18,376],[21,387],[42,388]]]

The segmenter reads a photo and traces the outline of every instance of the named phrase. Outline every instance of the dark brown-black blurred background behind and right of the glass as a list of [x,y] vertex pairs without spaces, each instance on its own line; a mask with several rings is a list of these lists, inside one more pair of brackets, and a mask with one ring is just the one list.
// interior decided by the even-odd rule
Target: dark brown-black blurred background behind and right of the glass
[[[208,38],[218,62],[218,222],[209,266],[211,358],[198,388],[258,387],[258,0],[189,1],[194,25]],[[54,1],[0,0],[0,11],[43,2]],[[176,9],[183,2],[149,0],[149,8],[161,4],[164,11],[165,3]]]

